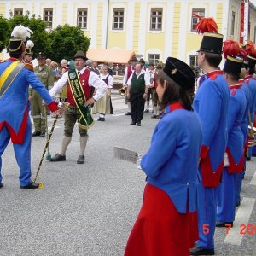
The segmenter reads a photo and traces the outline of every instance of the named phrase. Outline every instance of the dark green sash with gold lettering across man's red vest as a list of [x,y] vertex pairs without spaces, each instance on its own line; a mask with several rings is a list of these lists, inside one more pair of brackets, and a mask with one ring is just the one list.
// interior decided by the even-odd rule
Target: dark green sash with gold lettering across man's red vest
[[81,117],[79,118],[79,126],[82,129],[88,130],[92,125],[94,125],[94,119],[91,115],[90,107],[84,106],[86,98],[78,73],[76,73],[75,70],[70,70],[68,72],[68,82],[74,101],[76,102],[77,108],[79,108],[79,112],[81,113]]

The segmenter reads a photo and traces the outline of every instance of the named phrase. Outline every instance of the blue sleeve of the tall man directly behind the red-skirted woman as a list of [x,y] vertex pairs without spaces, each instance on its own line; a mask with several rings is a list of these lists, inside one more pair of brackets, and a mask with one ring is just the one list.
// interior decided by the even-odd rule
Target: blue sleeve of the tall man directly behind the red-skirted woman
[[204,93],[200,99],[198,115],[201,119],[203,134],[202,144],[209,147],[212,143],[212,137],[218,127],[222,96],[218,91],[218,84],[216,84],[215,81],[209,80],[204,86]]

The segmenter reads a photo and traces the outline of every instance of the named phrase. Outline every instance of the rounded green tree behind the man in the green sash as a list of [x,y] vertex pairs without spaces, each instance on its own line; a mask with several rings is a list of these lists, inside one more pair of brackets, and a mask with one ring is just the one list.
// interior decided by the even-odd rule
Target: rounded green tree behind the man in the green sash
[[62,59],[72,60],[78,50],[87,52],[90,38],[84,35],[79,26],[57,26],[49,32],[48,52],[51,59],[60,62]]

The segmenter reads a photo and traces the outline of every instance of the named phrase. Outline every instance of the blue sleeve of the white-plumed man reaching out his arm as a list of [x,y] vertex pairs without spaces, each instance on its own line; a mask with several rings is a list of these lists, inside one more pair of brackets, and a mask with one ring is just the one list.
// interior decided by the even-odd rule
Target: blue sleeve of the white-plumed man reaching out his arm
[[38,77],[32,71],[26,71],[26,81],[28,84],[31,84],[34,90],[37,90],[38,94],[42,97],[44,102],[49,105],[50,102],[53,102],[52,97],[49,95],[48,90],[45,89],[44,84],[40,82]]

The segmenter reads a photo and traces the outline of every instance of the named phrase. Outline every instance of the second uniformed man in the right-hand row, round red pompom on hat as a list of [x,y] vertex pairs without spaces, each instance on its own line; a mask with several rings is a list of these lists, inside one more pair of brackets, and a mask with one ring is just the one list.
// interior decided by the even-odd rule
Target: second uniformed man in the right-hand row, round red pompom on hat
[[242,58],[239,44],[232,40],[224,42],[224,78],[227,80],[230,89],[230,102],[228,112],[228,145],[226,154],[228,166],[224,166],[222,180],[218,186],[218,210],[216,227],[226,227],[226,224],[233,226],[236,211],[236,173],[241,173],[244,166],[244,135],[241,131],[241,123],[244,119],[247,98],[239,77]]

